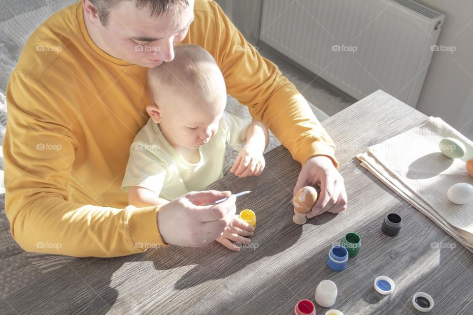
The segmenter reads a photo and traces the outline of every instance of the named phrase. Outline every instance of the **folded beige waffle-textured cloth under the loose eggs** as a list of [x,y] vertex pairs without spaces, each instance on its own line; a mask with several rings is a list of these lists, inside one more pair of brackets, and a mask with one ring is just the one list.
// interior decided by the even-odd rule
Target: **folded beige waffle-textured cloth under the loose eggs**
[[[440,153],[439,142],[446,137],[465,144],[463,158]],[[473,158],[471,140],[440,118],[429,117],[356,157],[381,182],[473,252],[473,203],[457,205],[447,197],[453,184],[473,184],[465,168],[466,161]]]

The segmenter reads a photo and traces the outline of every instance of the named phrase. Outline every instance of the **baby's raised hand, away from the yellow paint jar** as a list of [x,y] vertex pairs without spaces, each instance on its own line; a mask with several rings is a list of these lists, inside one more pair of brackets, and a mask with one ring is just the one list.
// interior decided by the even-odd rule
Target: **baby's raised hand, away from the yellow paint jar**
[[266,162],[261,150],[244,146],[238,153],[235,163],[230,169],[231,173],[242,178],[251,175],[261,175]]

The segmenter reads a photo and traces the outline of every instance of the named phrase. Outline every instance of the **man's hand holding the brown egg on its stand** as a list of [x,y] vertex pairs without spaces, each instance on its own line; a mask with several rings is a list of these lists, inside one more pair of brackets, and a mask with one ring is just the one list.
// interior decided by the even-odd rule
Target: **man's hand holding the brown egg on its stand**
[[299,173],[294,194],[304,186],[320,186],[320,196],[307,212],[307,218],[326,211],[339,213],[346,209],[347,197],[343,177],[338,173],[332,159],[325,156],[308,158]]

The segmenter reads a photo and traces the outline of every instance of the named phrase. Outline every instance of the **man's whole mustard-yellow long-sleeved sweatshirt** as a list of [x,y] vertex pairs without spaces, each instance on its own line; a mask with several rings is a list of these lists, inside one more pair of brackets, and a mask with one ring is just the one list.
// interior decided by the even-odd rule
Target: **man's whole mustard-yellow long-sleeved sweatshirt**
[[[196,0],[183,43],[205,48],[227,91],[301,163],[335,146],[303,96],[213,1]],[[112,257],[165,246],[159,207],[128,206],[120,185],[146,124],[146,68],[113,58],[86,30],[80,2],[29,38],[7,86],[3,154],[11,234],[29,252]]]

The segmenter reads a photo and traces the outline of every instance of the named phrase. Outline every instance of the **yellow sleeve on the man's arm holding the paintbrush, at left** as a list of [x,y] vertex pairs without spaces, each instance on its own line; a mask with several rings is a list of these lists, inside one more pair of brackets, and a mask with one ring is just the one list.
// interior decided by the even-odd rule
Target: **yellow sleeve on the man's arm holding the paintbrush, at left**
[[112,257],[165,245],[158,207],[116,209],[69,201],[78,141],[67,126],[67,106],[20,72],[11,75],[6,96],[5,212],[11,235],[24,250]]

